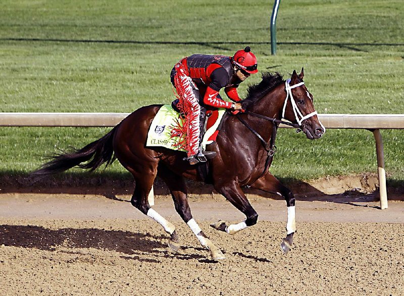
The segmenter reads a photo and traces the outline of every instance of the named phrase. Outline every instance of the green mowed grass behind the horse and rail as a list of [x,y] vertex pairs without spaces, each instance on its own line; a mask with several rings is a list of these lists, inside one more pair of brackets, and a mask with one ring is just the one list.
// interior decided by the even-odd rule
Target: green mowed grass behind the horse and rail
[[[1,112],[131,112],[174,99],[170,70],[191,53],[251,46],[260,72],[305,67],[319,113],[404,113],[404,27],[399,1],[281,3],[271,55],[272,3],[250,1],[4,1]],[[162,13],[164,12],[164,13]],[[245,96],[252,76],[239,88]],[[225,96],[224,96],[225,97]],[[0,128],[0,174],[24,175],[41,156],[81,147],[108,128]],[[383,130],[388,180],[404,180],[401,130]],[[328,130],[310,141],[281,129],[271,171],[308,180],[376,172],[373,135]],[[124,173],[115,165],[111,174]],[[104,173],[105,174],[105,173]],[[125,175],[126,176],[126,175]]]

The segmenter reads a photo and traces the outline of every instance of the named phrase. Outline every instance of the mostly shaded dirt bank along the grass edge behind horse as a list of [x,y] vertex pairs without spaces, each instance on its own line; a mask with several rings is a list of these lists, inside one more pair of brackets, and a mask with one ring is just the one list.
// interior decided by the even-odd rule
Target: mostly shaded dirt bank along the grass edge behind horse
[[[304,182],[279,178],[298,200],[350,203],[379,200],[378,178],[375,174],[326,177]],[[188,193],[196,198],[212,198],[218,195],[212,185],[186,180]],[[47,193],[47,194],[95,194],[117,201],[128,201],[117,195],[132,195],[134,183],[128,173],[66,173],[32,183],[25,175],[0,174],[1,193]],[[247,197],[283,199],[260,190],[244,188]],[[389,200],[404,200],[404,181],[387,183]],[[154,194],[170,196],[167,186],[160,178],[154,183]]]

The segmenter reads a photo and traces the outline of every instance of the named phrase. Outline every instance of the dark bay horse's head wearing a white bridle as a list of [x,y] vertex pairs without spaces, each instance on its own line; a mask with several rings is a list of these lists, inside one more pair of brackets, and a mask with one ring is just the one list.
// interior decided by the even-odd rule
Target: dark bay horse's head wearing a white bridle
[[300,125],[300,129],[309,139],[318,139],[325,127],[321,124],[313,105],[313,95],[303,82],[304,72],[297,75],[293,70],[292,77],[285,83],[286,99],[283,105],[282,118]]

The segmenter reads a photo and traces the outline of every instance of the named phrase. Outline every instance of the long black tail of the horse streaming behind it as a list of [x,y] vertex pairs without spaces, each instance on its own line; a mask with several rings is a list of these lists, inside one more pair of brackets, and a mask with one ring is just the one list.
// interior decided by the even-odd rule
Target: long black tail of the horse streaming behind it
[[112,140],[117,127],[115,126],[105,136],[89,143],[80,150],[72,148],[69,151],[49,157],[53,160],[30,174],[32,181],[38,181],[47,175],[61,173],[73,167],[89,169],[90,171],[94,171],[105,163],[108,167],[116,159]]

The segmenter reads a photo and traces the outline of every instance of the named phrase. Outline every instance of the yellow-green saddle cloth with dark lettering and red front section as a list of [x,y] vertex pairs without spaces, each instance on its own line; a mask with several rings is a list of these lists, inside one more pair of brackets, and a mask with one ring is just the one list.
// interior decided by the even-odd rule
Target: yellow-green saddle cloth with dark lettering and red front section
[[[225,109],[208,111],[207,128],[202,140],[203,148],[213,143],[219,133],[218,127],[225,114]],[[171,105],[163,105],[150,124],[147,133],[147,147],[159,146],[167,149],[185,151],[178,143],[184,138],[184,134],[179,132],[178,126],[182,126],[183,119]]]

